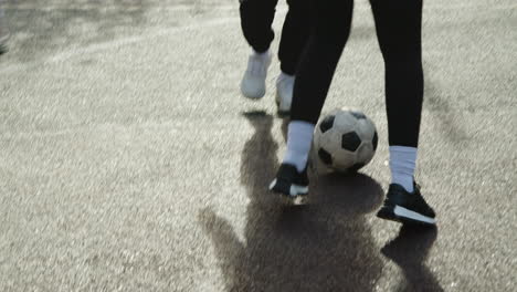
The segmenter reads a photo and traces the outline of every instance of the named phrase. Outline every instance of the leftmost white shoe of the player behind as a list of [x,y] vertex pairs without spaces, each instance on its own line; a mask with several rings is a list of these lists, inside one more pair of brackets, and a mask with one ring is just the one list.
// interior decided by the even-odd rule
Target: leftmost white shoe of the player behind
[[241,82],[241,92],[245,97],[258,100],[265,95],[265,80],[272,59],[270,51],[261,54],[253,52],[250,55],[247,69]]

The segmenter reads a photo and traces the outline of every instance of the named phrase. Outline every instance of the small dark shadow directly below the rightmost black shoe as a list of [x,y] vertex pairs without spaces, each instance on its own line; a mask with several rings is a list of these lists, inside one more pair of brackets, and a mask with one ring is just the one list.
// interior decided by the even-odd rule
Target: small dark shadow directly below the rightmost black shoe
[[398,291],[443,291],[424,263],[436,234],[436,227],[402,226],[399,236],[382,248],[382,254],[404,273],[405,282]]

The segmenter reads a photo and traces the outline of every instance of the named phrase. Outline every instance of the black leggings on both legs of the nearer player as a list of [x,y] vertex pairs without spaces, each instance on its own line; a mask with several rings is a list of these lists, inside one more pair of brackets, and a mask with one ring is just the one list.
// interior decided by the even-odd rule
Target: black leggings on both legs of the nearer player
[[[422,0],[370,0],[386,66],[390,145],[416,147],[423,101]],[[352,0],[315,0],[315,30],[296,74],[292,119],[316,124],[347,42]]]

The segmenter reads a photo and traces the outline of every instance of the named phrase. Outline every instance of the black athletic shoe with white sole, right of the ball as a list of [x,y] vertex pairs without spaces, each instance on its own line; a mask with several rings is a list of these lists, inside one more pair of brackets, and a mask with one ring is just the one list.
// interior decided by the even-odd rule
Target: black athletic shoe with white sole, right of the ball
[[401,223],[436,223],[434,210],[425,202],[416,184],[413,194],[392,184],[386,197],[384,206],[377,212],[377,217]]

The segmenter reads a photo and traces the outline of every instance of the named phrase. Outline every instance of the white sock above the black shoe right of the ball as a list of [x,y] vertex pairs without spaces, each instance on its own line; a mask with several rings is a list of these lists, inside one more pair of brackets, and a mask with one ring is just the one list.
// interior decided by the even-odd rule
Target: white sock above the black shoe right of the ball
[[416,148],[390,146],[391,184],[401,185],[413,192],[413,176],[416,166]]

